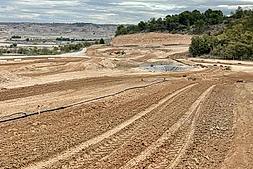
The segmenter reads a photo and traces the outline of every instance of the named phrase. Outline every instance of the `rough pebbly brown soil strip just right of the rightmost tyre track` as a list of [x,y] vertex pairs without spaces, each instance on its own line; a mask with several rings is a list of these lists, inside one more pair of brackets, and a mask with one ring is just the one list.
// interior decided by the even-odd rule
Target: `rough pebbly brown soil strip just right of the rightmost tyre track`
[[219,168],[224,162],[234,135],[233,110],[237,103],[234,86],[217,85],[206,99],[192,144],[175,168]]

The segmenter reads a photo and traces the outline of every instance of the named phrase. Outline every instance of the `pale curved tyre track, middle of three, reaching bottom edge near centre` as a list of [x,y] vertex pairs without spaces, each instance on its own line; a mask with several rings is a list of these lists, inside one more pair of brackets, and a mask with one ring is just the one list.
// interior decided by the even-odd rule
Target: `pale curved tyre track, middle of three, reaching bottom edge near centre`
[[[139,162],[147,159],[148,156],[155,153],[159,147],[161,147],[187,120],[193,115],[194,111],[203,102],[205,97],[212,91],[215,86],[209,87],[189,108],[188,112],[185,113],[172,127],[170,127],[156,142],[152,143],[146,148],[141,154],[130,161],[128,161],[121,169],[132,169]],[[183,153],[183,152],[182,152]],[[181,154],[182,154],[181,153]]]

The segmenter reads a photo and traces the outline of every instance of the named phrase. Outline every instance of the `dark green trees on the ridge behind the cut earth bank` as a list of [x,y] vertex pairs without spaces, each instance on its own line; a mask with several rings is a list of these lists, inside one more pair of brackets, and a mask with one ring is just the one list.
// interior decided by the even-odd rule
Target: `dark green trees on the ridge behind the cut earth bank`
[[198,10],[185,11],[179,15],[167,15],[165,18],[151,18],[141,21],[138,25],[118,26],[116,35],[141,32],[170,32],[201,34],[212,25],[222,24],[227,19],[220,10],[208,9],[204,13]]

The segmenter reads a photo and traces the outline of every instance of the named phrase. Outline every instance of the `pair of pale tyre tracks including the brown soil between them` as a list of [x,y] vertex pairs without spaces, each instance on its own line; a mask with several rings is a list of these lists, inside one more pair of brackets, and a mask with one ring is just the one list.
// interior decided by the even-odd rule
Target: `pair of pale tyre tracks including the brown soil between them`
[[192,84],[177,90],[113,129],[26,169],[173,168],[191,143],[198,109],[213,88]]

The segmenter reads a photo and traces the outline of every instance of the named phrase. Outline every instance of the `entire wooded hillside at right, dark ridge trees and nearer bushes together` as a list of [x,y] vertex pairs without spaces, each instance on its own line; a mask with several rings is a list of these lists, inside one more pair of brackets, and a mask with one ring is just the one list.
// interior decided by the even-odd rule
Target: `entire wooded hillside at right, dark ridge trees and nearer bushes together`
[[231,16],[220,10],[184,11],[165,18],[151,18],[137,25],[118,26],[115,36],[147,32],[204,34],[194,36],[189,48],[193,57],[253,60],[253,11],[241,7]]

